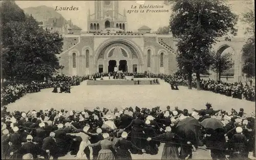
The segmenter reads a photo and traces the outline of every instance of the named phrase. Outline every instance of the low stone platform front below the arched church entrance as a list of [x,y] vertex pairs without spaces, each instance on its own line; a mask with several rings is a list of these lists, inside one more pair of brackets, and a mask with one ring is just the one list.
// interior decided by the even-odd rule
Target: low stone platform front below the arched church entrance
[[[135,84],[136,82],[136,84]],[[137,81],[131,81],[131,80],[126,80],[126,79],[116,79],[116,80],[88,80],[87,85],[138,85]],[[140,80],[139,85],[151,85],[149,80]],[[152,85],[159,85],[159,84],[154,84],[152,82]]]

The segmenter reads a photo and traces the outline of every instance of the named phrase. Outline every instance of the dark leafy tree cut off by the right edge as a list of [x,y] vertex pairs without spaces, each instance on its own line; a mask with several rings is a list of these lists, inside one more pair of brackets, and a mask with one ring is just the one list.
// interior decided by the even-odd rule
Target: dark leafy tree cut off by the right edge
[[246,77],[255,77],[255,38],[250,37],[243,46],[244,65],[242,71]]

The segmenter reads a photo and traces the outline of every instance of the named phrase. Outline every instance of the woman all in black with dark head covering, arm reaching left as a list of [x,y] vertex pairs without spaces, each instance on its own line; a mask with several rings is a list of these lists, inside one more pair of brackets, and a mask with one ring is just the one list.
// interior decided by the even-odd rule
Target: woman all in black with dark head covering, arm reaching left
[[[137,118],[134,119],[129,126],[126,126],[124,128],[124,130],[126,128],[129,128],[130,126],[132,126],[132,131],[131,131],[131,142],[139,147],[139,148],[145,148],[147,142],[144,138],[145,137],[145,133],[143,131],[143,128],[146,126],[145,124],[145,120],[142,114],[138,113],[137,114]],[[132,149],[131,152],[133,154],[142,154],[142,152],[140,150],[134,150]]]

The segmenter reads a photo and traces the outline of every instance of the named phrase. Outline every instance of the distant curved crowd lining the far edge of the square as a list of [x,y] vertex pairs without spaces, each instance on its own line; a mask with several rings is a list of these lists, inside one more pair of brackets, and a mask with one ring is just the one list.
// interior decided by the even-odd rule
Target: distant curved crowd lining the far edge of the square
[[[94,73],[87,76],[67,76],[64,74],[57,75],[51,80],[44,82],[29,82],[23,84],[9,84],[1,88],[1,102],[6,105],[12,103],[20,97],[24,96],[26,93],[39,92],[44,88],[56,88],[61,87],[62,92],[70,92],[71,86],[80,85],[80,82],[91,79],[96,80],[96,78],[102,78],[103,76],[115,76],[119,78],[117,73]],[[178,89],[177,86],[187,86],[187,79],[179,73],[175,74],[153,74],[153,73],[122,73],[121,77],[133,76],[134,78],[160,78],[164,79],[165,82],[169,83],[172,89]],[[102,78],[103,79],[103,78]],[[197,81],[193,78],[192,87],[197,87]],[[201,79],[201,89],[206,91],[211,91],[215,93],[220,93],[226,96],[231,96],[233,98],[246,99],[250,101],[255,101],[255,87],[249,86],[247,83],[243,85],[240,83],[226,83],[222,81],[214,81],[212,79],[204,80]],[[56,90],[54,90],[56,91]]]

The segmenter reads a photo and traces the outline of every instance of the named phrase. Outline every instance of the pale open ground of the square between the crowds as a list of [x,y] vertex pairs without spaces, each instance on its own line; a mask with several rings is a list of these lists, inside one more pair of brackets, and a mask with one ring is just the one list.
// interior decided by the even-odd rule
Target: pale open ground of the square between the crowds
[[[160,80],[160,85],[134,85],[134,86],[87,86],[82,82],[80,86],[74,86],[71,93],[52,93],[53,89],[44,89],[38,93],[27,94],[16,102],[9,104],[8,110],[14,111],[39,111],[50,108],[65,110],[83,110],[84,107],[93,109],[100,108],[121,109],[126,106],[139,106],[152,108],[159,105],[165,109],[170,105],[179,106],[179,109],[191,108],[203,109],[207,101],[212,103],[215,110],[223,109],[230,111],[231,108],[239,110],[244,108],[245,113],[255,112],[255,103],[246,100],[233,99],[224,95],[208,91],[188,90],[180,86],[180,90],[171,90],[169,84]],[[161,159],[163,144],[157,155],[132,155],[133,159]],[[59,159],[76,159],[73,155],[59,157]],[[193,159],[211,159],[209,151],[198,149],[193,152]]]

